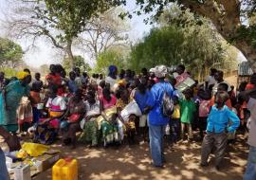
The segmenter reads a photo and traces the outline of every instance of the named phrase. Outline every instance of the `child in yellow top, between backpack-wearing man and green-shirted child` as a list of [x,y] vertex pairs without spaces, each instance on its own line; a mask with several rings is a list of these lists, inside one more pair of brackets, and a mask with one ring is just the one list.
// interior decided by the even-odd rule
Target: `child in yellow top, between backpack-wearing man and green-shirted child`
[[176,143],[180,137],[180,105],[178,98],[174,96],[174,113],[170,119],[171,141]]

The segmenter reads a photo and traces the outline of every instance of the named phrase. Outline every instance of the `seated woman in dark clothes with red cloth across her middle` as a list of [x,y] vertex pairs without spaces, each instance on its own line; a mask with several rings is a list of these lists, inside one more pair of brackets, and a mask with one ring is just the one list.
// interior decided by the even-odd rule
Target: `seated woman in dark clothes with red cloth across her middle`
[[61,122],[64,145],[71,142],[72,148],[76,147],[76,133],[81,130],[80,121],[85,114],[85,106],[82,100],[82,90],[78,89],[75,96],[69,99],[64,120]]

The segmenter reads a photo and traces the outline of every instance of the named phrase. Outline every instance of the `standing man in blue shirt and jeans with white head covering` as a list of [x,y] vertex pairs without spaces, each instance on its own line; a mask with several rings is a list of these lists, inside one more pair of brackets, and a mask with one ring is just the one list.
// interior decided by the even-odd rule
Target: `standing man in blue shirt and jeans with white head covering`
[[157,83],[152,87],[149,98],[147,100],[147,107],[143,114],[149,113],[149,136],[150,136],[150,150],[153,163],[157,168],[163,168],[164,151],[163,151],[163,136],[165,127],[169,122],[169,117],[164,117],[161,106],[164,93],[173,97],[174,88],[171,83],[164,81],[167,75],[167,67],[159,65],[155,67],[155,76],[158,78]]

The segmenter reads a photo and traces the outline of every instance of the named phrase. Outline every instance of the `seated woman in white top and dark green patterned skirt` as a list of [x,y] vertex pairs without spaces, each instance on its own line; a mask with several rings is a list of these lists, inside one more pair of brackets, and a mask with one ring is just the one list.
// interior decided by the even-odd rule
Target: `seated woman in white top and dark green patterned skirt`
[[82,143],[91,142],[92,146],[98,145],[98,124],[97,117],[101,116],[100,101],[96,100],[95,92],[89,91],[87,93],[87,100],[85,101],[86,115],[84,117],[84,125],[82,127],[82,135],[79,140]]

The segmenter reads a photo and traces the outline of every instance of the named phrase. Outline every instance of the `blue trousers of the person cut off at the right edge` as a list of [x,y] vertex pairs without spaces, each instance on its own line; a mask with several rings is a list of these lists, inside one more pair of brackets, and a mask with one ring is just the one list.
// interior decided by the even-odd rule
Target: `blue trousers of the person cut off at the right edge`
[[250,146],[247,160],[247,171],[244,180],[256,179],[256,147]]

